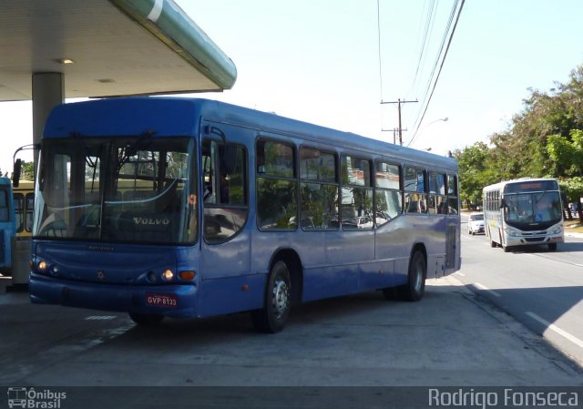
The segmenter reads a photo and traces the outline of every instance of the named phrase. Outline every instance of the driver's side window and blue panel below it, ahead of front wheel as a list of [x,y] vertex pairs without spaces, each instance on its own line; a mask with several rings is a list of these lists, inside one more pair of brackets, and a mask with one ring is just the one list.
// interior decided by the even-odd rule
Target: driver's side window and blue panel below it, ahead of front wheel
[[252,293],[263,287],[250,285],[251,233],[243,229],[249,218],[247,150],[204,138],[200,160],[201,313],[231,312],[233,305],[257,308]]

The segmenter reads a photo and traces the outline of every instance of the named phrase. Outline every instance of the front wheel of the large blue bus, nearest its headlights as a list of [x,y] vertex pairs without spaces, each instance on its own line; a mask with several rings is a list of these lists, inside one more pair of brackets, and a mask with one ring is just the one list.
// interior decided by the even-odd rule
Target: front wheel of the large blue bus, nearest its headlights
[[267,281],[263,308],[251,312],[253,326],[260,332],[280,332],[290,315],[291,294],[288,266],[284,261],[276,261]]

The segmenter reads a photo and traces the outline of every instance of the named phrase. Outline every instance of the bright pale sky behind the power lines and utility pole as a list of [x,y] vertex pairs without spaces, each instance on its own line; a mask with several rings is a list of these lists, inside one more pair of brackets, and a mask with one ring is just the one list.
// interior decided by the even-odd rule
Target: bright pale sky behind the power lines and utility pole
[[[547,92],[583,64],[583,2],[466,0],[419,123],[455,1],[175,0],[237,66],[230,90],[196,97],[388,142],[398,112],[381,102],[416,100],[401,105],[403,144],[438,155],[487,143],[529,88]],[[30,101],[0,102],[0,136],[4,173],[32,142]]]

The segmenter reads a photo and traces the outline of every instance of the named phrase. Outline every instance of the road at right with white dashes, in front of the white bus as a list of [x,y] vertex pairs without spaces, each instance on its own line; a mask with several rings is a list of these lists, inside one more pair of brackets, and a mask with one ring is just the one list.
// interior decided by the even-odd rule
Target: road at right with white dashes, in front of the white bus
[[[464,227],[462,229],[465,231]],[[505,253],[484,235],[462,236],[455,278],[583,366],[583,237]]]

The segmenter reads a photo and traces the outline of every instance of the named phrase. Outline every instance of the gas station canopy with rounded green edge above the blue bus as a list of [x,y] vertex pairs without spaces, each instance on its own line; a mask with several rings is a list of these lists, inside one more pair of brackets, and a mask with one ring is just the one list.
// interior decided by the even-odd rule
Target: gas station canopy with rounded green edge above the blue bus
[[0,0],[0,101],[221,91],[235,65],[172,0]]

